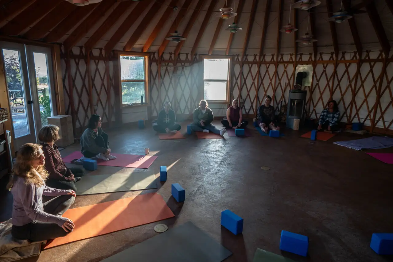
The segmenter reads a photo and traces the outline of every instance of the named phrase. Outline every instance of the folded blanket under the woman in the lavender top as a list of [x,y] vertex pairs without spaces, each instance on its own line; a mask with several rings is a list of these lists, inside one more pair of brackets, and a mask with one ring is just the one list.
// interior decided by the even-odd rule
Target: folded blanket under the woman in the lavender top
[[0,262],[15,261],[22,258],[37,256],[44,242],[30,242],[15,239],[11,235],[11,219],[0,223]]

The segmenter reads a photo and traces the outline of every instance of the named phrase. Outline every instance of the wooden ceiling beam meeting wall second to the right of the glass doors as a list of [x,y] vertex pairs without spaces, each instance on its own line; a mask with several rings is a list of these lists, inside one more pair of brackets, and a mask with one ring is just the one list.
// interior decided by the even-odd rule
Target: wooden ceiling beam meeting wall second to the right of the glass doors
[[86,41],[84,48],[86,50],[92,49],[95,44],[112,28],[112,26],[119,20],[120,16],[123,15],[127,9],[131,6],[132,1],[120,2],[118,6],[113,10],[112,14],[103,22],[103,24],[95,30],[94,34]]

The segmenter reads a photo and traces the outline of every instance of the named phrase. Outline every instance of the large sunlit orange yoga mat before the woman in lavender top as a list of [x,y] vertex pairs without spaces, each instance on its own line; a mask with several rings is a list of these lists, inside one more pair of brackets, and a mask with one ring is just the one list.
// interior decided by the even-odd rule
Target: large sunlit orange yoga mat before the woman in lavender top
[[68,209],[63,217],[71,219],[75,229],[55,238],[45,249],[104,235],[122,229],[174,217],[162,196],[157,193]]

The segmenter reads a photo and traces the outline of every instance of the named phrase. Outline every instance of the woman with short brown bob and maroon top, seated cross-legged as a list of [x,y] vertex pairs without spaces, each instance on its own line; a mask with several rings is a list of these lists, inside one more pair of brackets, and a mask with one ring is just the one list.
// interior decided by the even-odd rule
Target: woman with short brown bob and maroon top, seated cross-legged
[[59,149],[55,142],[59,140],[59,127],[55,125],[42,126],[38,133],[42,151],[45,156],[45,169],[48,171],[46,185],[57,189],[72,189],[76,192],[75,182],[81,180],[83,169],[79,167],[68,168],[61,158]]

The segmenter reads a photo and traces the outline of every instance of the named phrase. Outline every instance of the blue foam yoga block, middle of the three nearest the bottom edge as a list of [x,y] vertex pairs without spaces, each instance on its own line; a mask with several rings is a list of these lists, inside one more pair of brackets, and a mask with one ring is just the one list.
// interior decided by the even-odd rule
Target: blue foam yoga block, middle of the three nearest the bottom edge
[[283,230],[281,231],[280,249],[306,257],[309,238]]

